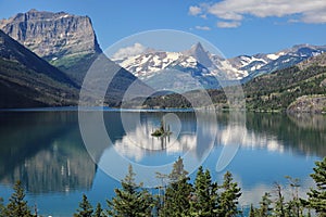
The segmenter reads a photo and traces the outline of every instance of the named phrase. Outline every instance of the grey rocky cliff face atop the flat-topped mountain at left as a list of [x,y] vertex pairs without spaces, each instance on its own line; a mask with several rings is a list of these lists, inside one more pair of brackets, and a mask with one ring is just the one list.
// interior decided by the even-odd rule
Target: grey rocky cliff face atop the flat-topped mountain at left
[[88,16],[30,10],[0,21],[0,28],[47,61],[101,52]]

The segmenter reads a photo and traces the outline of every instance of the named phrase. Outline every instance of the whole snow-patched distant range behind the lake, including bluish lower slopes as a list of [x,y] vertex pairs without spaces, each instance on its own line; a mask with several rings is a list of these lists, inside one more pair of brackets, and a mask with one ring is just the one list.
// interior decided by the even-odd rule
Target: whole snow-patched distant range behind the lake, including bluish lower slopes
[[[210,53],[198,42],[186,51],[168,52],[146,48],[138,54],[112,60],[152,87],[162,86],[163,77],[167,76],[170,80],[174,78],[171,86],[190,84],[191,90],[200,86],[218,88],[218,80],[247,81],[259,75],[296,65],[325,51],[326,46],[300,44],[276,53],[225,59]],[[167,78],[163,80],[167,81]]]

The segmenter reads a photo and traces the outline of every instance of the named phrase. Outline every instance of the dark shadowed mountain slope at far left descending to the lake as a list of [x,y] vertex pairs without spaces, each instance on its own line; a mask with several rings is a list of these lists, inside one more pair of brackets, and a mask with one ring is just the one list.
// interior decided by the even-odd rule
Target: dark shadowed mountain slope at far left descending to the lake
[[0,30],[0,107],[76,104],[78,85]]

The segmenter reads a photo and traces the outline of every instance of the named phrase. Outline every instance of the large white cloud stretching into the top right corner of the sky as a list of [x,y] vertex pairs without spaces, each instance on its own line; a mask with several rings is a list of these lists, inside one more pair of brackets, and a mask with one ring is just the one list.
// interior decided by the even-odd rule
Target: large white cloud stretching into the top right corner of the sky
[[[190,13],[190,9],[193,12]],[[223,0],[217,3],[202,3],[198,7],[190,7],[189,14],[206,15],[211,14],[218,18],[218,27],[237,27],[247,15],[256,17],[289,17],[293,16],[303,23],[326,23],[326,1],[325,0]],[[299,18],[298,18],[299,17]],[[231,23],[228,23],[231,22]]]

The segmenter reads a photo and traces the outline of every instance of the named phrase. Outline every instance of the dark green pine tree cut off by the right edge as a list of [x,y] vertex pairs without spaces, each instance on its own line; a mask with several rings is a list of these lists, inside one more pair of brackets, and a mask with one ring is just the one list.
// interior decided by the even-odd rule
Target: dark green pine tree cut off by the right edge
[[319,216],[326,216],[326,157],[315,164],[314,174],[310,176],[314,179],[317,189],[311,189],[308,193],[309,205]]

